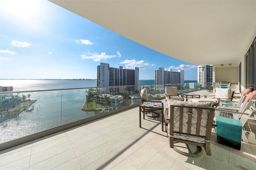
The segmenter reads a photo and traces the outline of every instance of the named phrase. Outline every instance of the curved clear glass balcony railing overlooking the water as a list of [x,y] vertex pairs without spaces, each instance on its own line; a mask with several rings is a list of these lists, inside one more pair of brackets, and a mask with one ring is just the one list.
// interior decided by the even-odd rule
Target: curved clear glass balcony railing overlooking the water
[[143,88],[148,89],[149,99],[163,99],[165,86],[177,86],[178,93],[202,89],[200,83],[177,83],[0,92],[0,144],[136,107]]

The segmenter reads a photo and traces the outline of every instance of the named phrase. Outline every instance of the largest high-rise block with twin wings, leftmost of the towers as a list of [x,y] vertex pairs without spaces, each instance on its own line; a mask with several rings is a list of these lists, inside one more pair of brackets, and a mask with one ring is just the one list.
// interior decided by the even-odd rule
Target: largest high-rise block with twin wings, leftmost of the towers
[[118,85],[138,85],[139,68],[123,69],[110,67],[108,63],[100,63],[97,66],[97,87],[118,86]]

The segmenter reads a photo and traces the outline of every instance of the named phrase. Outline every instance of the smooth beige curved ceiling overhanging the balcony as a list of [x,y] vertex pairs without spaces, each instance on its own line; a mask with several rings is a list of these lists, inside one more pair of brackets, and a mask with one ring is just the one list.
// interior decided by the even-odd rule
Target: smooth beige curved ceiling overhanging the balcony
[[196,65],[240,63],[256,36],[255,0],[49,1],[134,42]]

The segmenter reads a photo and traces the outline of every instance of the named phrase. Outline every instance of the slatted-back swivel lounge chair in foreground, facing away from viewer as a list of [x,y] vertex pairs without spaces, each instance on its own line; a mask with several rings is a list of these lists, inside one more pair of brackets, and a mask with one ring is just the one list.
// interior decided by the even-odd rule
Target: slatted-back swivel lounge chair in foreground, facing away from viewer
[[[211,102],[186,102],[168,100],[165,110],[165,125],[171,148],[180,154],[190,157],[201,156],[205,148],[206,154],[211,155],[210,138],[214,109]],[[179,150],[174,143],[186,145],[188,152]],[[196,151],[191,152],[189,145],[195,145]]]

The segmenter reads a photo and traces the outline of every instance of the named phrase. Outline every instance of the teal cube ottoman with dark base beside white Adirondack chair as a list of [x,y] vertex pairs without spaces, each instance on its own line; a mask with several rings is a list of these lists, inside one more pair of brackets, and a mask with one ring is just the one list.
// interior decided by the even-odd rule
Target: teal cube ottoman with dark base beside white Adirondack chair
[[237,150],[241,149],[242,123],[226,117],[216,117],[217,141]]

